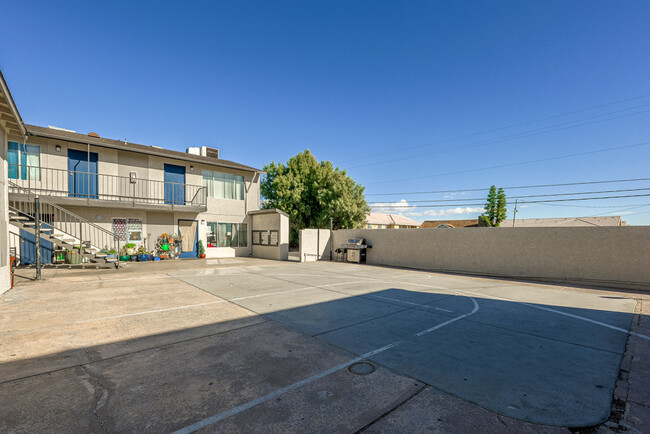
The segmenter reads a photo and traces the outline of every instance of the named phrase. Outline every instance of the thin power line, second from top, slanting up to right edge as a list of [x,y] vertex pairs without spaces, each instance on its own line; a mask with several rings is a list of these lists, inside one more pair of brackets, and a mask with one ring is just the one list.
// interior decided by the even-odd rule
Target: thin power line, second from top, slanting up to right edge
[[[421,157],[423,155],[431,155],[431,154],[434,154],[434,153],[435,154],[440,154],[440,153],[448,152],[448,151],[465,150],[465,149],[469,149],[469,148],[475,148],[475,147],[481,146],[481,145],[500,143],[500,142],[504,142],[504,141],[507,141],[507,140],[521,139],[521,138],[525,138],[525,137],[532,137],[532,136],[537,136],[537,135],[540,135],[540,134],[546,134],[546,133],[552,133],[552,132],[556,132],[556,131],[562,131],[562,130],[566,130],[566,129],[569,129],[569,128],[576,128],[576,127],[591,125],[591,124],[595,124],[595,123],[599,123],[599,122],[615,120],[615,119],[619,119],[619,118],[622,118],[622,117],[647,113],[650,110],[641,110],[641,111],[638,111],[638,112],[627,113],[627,114],[623,114],[623,115],[620,115],[620,116],[614,116],[614,117],[607,118],[607,119],[600,119],[600,120],[594,120],[594,121],[591,121],[591,122],[583,122],[583,123],[576,124],[576,122],[585,121],[585,120],[589,120],[589,119],[595,119],[595,118],[599,118],[599,117],[602,117],[602,116],[615,114],[615,113],[620,113],[620,112],[628,111],[628,110],[635,109],[635,108],[647,107],[649,105],[650,104],[641,104],[639,106],[634,106],[634,107],[630,107],[630,108],[626,108],[626,109],[616,110],[616,111],[609,112],[609,113],[602,113],[602,114],[599,114],[599,115],[594,115],[594,116],[590,116],[590,117],[583,118],[583,119],[576,119],[576,120],[573,120],[573,121],[568,121],[568,122],[564,122],[564,123],[560,123],[560,124],[556,124],[556,125],[549,125],[549,126],[537,128],[537,129],[534,129],[534,130],[522,131],[522,132],[519,132],[519,133],[510,134],[510,135],[507,135],[507,136],[495,137],[495,138],[491,138],[491,139],[484,139],[484,140],[481,140],[481,141],[478,141],[478,142],[470,142],[470,143],[465,144],[465,145],[452,146],[452,147],[443,148],[443,149],[435,149],[435,150],[432,150],[432,151],[429,151],[429,152],[418,153],[418,154],[409,155],[409,156],[405,156],[405,157],[401,157],[401,158],[392,158],[390,160],[382,160],[382,161],[375,161],[375,162],[369,162],[369,163],[364,163],[364,164],[358,164],[356,166],[348,167],[348,169],[355,169],[355,168],[360,168],[360,167],[368,167],[368,166],[374,166],[374,165],[377,165],[377,164],[384,164],[384,163],[394,163],[396,161],[410,160],[410,159],[413,159],[413,158]],[[575,124],[575,125],[570,125],[570,124]],[[565,126],[565,125],[568,125],[568,126]],[[400,152],[403,152],[403,149],[400,150]]]

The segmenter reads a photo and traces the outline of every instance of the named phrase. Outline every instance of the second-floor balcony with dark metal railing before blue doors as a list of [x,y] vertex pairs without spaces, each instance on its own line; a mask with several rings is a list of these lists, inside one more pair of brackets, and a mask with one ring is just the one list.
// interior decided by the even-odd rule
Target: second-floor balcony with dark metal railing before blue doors
[[[62,204],[205,211],[206,188],[101,173],[8,165],[9,180]],[[20,191],[9,193],[21,194]]]

